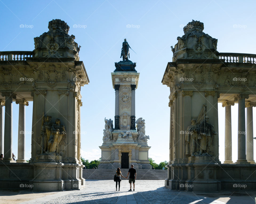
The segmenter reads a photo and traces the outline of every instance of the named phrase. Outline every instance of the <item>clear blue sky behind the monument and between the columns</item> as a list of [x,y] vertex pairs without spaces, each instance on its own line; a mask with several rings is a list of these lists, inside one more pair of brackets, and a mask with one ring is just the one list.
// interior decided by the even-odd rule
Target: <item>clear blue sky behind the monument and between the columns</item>
[[[192,19],[203,22],[204,32],[218,39],[219,52],[255,53],[255,1],[0,0],[0,5],[0,51],[32,51],[34,37],[47,32],[52,19],[64,20],[70,26],[69,35],[75,35],[75,41],[82,46],[79,56],[90,83],[81,88],[84,133],[81,145],[82,157],[89,161],[101,156],[98,146],[102,144],[104,118],[114,119],[111,72],[114,63],[120,61],[124,38],[137,53],[130,51],[130,60],[137,63],[140,72],[136,117],[145,119],[146,135],[150,136],[149,157],[157,163],[169,160],[170,91],[161,80],[167,63],[172,61],[170,46],[183,35],[183,26]],[[26,26],[21,28],[21,24]],[[32,104],[26,107],[26,131],[31,131]],[[15,103],[13,115],[13,152],[17,155],[18,105]],[[221,161],[224,160],[224,118],[224,108],[219,104]],[[232,107],[232,124],[233,161],[236,161],[237,105]],[[255,131],[256,128],[256,136]],[[26,134],[26,159],[30,158],[30,144],[31,135]]]

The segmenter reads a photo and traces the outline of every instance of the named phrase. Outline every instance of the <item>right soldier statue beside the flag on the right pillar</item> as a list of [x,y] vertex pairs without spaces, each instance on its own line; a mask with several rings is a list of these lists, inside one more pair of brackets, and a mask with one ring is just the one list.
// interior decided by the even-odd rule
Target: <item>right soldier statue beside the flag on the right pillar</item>
[[203,151],[209,154],[209,149],[213,145],[213,136],[216,134],[213,125],[209,123],[209,116],[206,115],[205,120],[199,124],[199,155],[202,155]]

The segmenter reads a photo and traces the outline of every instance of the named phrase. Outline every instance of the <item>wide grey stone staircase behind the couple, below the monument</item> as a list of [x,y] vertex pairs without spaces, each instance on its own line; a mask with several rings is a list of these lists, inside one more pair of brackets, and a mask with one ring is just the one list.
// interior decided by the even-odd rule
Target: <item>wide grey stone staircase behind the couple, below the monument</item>
[[[129,169],[121,169],[123,176],[127,176]],[[164,180],[167,170],[161,169],[136,169],[138,180]],[[96,180],[114,180],[115,169],[83,169],[83,178]],[[122,177],[121,177],[122,178]],[[128,177],[129,178],[129,177]],[[125,178],[122,178],[125,179]]]

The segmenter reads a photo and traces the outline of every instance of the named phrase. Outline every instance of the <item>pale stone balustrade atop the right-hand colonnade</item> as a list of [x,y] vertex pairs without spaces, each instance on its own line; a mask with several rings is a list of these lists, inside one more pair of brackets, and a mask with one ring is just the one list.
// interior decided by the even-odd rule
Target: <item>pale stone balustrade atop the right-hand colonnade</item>
[[256,64],[256,55],[255,54],[220,52],[218,57],[219,57],[219,59],[225,59],[225,62],[229,62],[229,63]]

